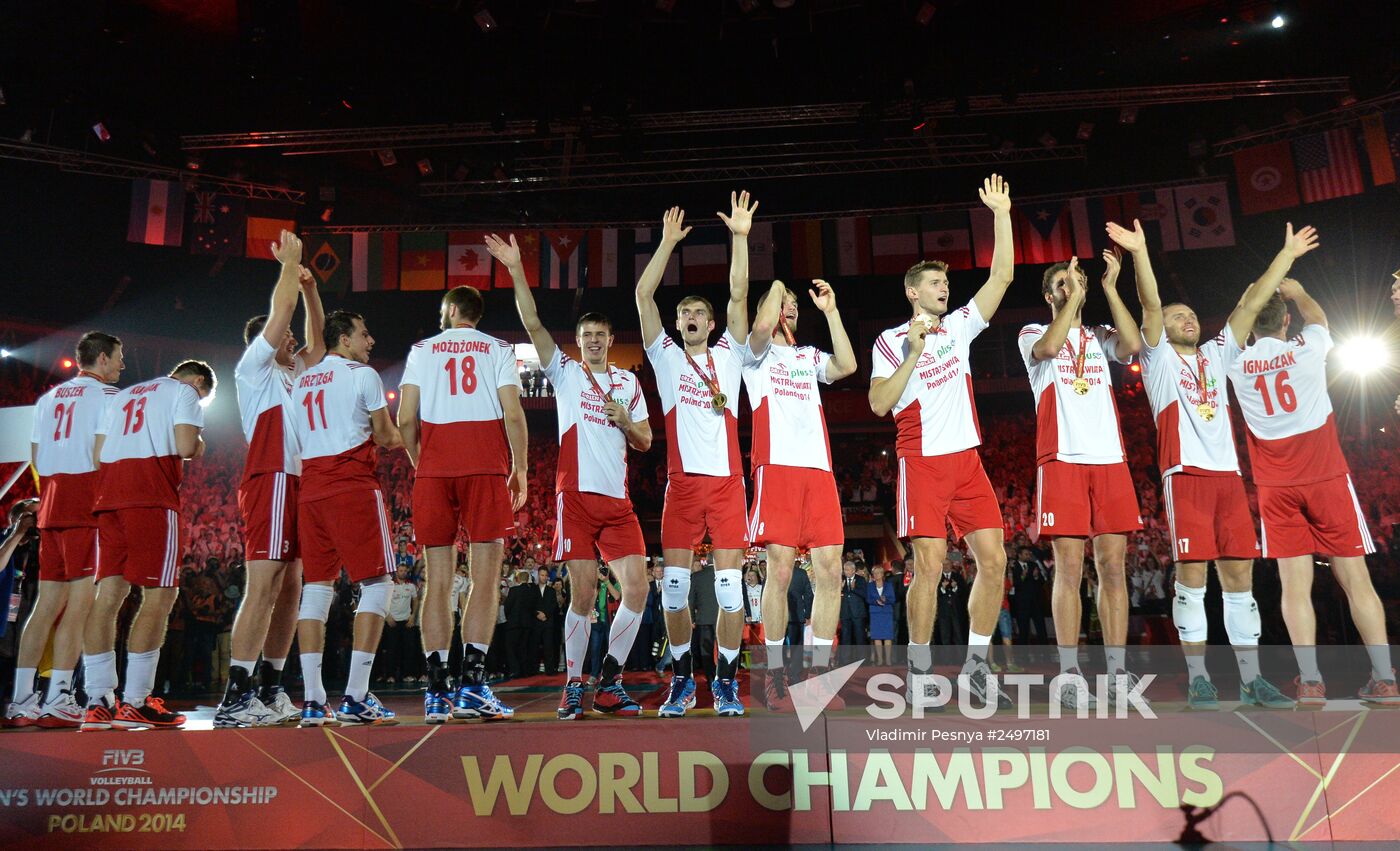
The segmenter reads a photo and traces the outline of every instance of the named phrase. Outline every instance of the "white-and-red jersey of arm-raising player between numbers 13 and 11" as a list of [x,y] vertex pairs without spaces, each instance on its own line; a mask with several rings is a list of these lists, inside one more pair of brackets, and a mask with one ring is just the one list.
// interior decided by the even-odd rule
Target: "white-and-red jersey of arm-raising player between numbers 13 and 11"
[[277,350],[258,335],[234,367],[238,416],[244,421],[248,460],[244,481],[260,473],[301,474],[297,424],[291,410],[291,385],[307,370],[301,357],[288,370],[277,363]]

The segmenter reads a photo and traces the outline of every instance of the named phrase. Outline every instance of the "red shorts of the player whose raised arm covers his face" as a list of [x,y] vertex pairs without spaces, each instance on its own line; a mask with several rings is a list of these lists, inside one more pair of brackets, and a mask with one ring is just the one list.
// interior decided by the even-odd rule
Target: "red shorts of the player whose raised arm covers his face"
[[755,546],[827,547],[846,543],[836,476],[815,467],[764,465],[753,473],[749,540]]

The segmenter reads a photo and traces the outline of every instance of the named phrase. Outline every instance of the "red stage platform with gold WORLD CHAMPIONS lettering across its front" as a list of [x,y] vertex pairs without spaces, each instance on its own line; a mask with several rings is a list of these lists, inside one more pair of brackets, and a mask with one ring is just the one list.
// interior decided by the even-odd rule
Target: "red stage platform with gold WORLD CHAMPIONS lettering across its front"
[[[648,710],[659,677],[633,693]],[[868,682],[868,679],[865,680]],[[847,689],[860,687],[851,680]],[[559,677],[500,686],[512,722],[0,735],[0,843],[414,848],[829,843],[1393,841],[1400,711],[560,722]],[[748,691],[748,690],[746,690]],[[746,694],[746,697],[749,697]],[[752,704],[752,700],[749,700]],[[585,703],[587,705],[587,703]],[[805,726],[805,729],[804,729]],[[160,834],[160,836],[155,836]]]

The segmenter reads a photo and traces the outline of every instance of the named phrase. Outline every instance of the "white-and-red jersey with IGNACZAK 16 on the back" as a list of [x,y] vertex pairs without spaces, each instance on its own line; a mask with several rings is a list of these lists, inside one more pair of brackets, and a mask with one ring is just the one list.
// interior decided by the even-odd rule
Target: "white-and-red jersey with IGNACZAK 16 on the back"
[[1327,396],[1331,333],[1309,325],[1292,340],[1256,339],[1229,368],[1249,426],[1254,484],[1294,486],[1345,476]]

